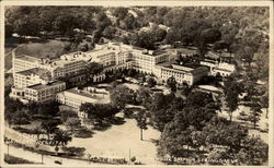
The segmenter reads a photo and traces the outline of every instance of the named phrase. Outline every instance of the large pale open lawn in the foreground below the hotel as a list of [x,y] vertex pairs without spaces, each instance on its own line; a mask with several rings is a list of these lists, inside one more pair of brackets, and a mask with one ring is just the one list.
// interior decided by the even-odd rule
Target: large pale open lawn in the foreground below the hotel
[[156,165],[157,146],[153,143],[160,139],[160,132],[149,128],[144,131],[140,141],[140,130],[134,119],[125,119],[124,124],[112,125],[106,131],[95,131],[93,137],[73,137],[69,146],[85,147],[85,152],[96,157],[126,158],[136,157],[137,161]]

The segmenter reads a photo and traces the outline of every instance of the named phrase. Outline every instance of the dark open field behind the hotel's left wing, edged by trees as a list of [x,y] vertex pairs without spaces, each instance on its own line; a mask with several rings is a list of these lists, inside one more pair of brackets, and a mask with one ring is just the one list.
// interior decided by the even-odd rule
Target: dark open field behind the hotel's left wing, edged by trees
[[45,44],[32,43],[19,47],[16,56],[28,55],[36,58],[58,58],[64,53],[64,46],[66,41],[49,40]]

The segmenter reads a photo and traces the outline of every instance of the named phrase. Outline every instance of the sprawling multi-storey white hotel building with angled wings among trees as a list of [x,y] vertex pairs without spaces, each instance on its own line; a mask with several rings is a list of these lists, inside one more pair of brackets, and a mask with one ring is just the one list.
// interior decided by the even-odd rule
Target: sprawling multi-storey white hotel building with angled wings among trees
[[[72,52],[60,56],[58,59],[38,59],[30,56],[13,57],[14,86],[11,97],[25,101],[44,101],[56,97],[56,94],[66,89],[65,82],[60,77],[82,74],[87,62],[103,64],[104,72],[116,69],[135,69],[142,73],[153,74],[162,82],[174,76],[179,84],[193,85],[201,77],[225,71],[228,75],[233,68],[221,67],[214,62],[203,61],[199,67],[186,67],[169,61],[169,55],[164,50],[149,51],[129,45],[109,43],[96,45],[94,50],[87,52]],[[207,68],[206,68],[207,67]],[[104,80],[100,74],[93,79]]]

